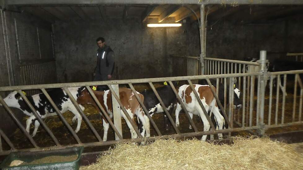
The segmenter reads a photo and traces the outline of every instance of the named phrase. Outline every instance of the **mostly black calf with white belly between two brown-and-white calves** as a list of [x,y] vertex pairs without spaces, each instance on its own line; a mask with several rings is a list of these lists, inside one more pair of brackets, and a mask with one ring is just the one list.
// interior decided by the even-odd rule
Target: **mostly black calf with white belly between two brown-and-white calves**
[[[162,99],[164,105],[166,106],[166,109],[168,112],[172,113],[173,107],[177,103],[176,95],[173,92],[173,89],[167,85],[156,88],[157,92],[159,93],[160,98]],[[155,93],[152,90],[144,90],[141,92],[141,94],[144,96],[144,105],[148,110],[148,113],[151,115],[154,113],[163,113],[164,110],[162,109],[159,100],[157,99]],[[165,129],[168,130],[169,128],[169,120],[164,113],[164,125]],[[140,130],[140,133],[142,132],[142,123],[139,121],[138,128]]]

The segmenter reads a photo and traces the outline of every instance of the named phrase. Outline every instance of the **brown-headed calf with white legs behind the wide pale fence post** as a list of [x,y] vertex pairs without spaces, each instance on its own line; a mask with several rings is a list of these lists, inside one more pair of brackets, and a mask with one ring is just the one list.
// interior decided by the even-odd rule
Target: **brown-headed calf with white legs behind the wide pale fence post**
[[[93,91],[95,96],[98,98],[100,104],[104,108],[104,110],[107,112],[109,117],[112,119],[113,114],[112,114],[112,93],[110,90],[106,91]],[[137,115],[138,119],[143,123],[144,131],[142,132],[142,136],[144,137],[145,131],[146,131],[146,137],[150,136],[150,130],[149,130],[149,119],[148,117],[144,114],[138,100],[134,96],[134,93],[131,89],[128,88],[119,88],[119,93],[120,93],[120,100],[123,106],[125,107],[125,110],[127,113],[130,115],[132,119],[134,119],[134,115]],[[137,92],[141,101],[143,102],[144,97],[142,94]],[[99,113],[101,113],[98,105],[95,103],[94,99],[91,97],[90,93],[88,90],[85,88],[81,92],[78,100],[78,104],[92,104]],[[134,130],[133,126],[130,124],[130,121],[128,121],[127,117],[121,110],[121,117],[123,117],[130,128],[130,134],[131,138],[137,138],[138,135],[136,131]],[[103,119],[103,141],[107,141],[107,132],[109,128],[109,123],[106,120],[106,118],[102,114],[102,119]]]

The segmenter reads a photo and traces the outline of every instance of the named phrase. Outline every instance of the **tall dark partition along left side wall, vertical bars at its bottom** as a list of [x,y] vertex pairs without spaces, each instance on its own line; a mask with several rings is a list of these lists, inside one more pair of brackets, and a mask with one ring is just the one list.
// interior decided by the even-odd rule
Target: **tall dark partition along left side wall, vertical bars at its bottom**
[[[18,49],[20,85],[56,83],[56,63],[52,32],[46,28],[14,19]],[[28,90],[29,95],[40,90]]]

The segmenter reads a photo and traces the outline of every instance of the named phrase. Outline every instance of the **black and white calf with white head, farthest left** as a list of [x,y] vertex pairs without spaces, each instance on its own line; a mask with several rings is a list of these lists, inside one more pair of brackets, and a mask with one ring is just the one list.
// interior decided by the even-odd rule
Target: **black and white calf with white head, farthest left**
[[[82,87],[69,87],[68,90],[72,93],[72,96],[77,100]],[[78,120],[77,128],[75,132],[77,133],[80,130],[82,117],[78,113],[75,106],[72,104],[72,101],[69,99],[68,95],[61,88],[56,88],[54,90],[48,91],[51,99],[55,102],[56,106],[59,108],[61,113],[65,113],[68,110],[71,111],[75,116],[72,118],[72,122]],[[55,113],[55,109],[52,107],[51,103],[47,100],[46,96],[43,93],[36,94],[33,96],[27,96],[29,102],[33,105],[37,113],[41,118],[46,118],[49,116],[57,115]],[[33,131],[32,136],[35,136],[40,125],[39,121],[36,120],[36,117],[33,115],[32,110],[22,99],[21,95],[17,91],[11,92],[4,101],[7,103],[9,107],[19,108],[23,111],[24,114],[29,116],[26,121],[26,131],[29,132],[30,124],[35,121],[35,129]],[[1,104],[0,104],[1,105]],[[79,105],[82,110],[84,107]]]

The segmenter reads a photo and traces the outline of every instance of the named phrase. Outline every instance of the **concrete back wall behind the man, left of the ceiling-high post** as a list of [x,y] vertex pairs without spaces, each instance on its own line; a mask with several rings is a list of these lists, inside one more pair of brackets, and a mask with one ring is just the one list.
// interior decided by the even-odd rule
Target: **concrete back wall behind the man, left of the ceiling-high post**
[[[149,21],[147,21],[148,23]],[[73,20],[54,25],[55,56],[59,82],[91,81],[96,66],[96,38],[102,36],[115,52],[119,79],[171,75],[169,54],[198,55],[191,36],[199,30],[187,23],[179,28],[147,28],[140,19]]]

